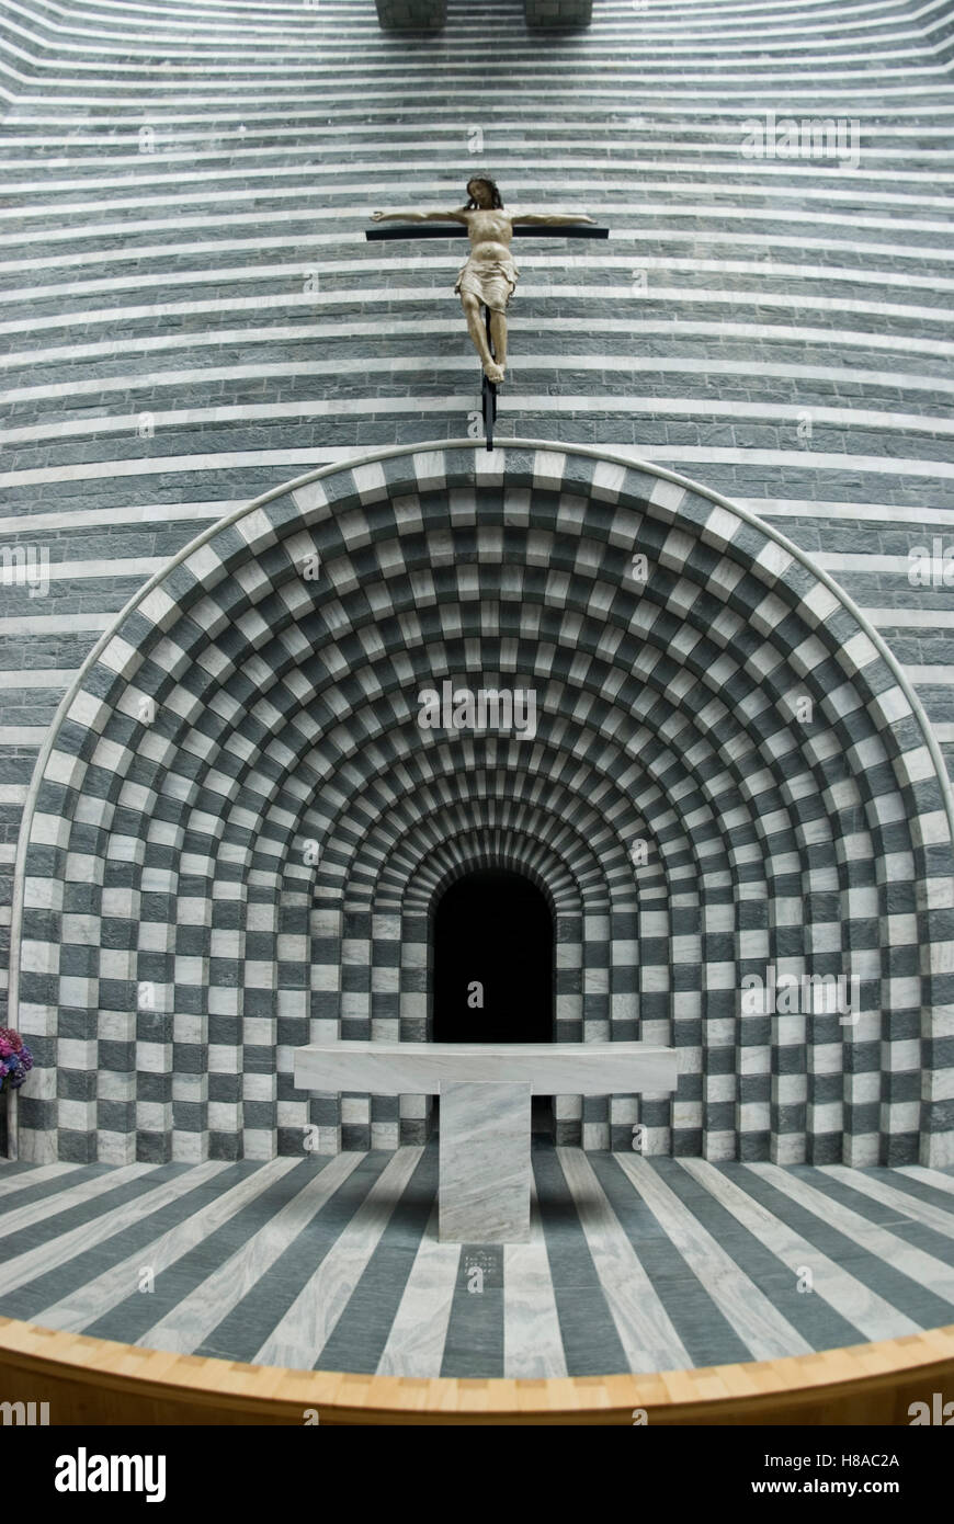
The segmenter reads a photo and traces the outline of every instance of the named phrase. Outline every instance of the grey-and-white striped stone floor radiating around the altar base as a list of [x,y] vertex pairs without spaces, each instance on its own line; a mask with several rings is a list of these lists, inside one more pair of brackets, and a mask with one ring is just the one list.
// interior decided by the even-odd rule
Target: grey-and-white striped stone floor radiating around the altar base
[[439,1244],[437,1148],[0,1164],[6,1317],[413,1376],[770,1359],[954,1321],[954,1170],[533,1143],[529,1244]]

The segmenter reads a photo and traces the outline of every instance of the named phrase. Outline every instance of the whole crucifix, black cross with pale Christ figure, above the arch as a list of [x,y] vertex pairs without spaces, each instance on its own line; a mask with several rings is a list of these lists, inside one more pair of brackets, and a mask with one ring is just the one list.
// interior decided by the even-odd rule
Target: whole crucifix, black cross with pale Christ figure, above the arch
[[[488,450],[494,448],[497,387],[507,364],[506,309],[520,271],[511,253],[511,238],[608,238],[608,227],[596,227],[591,216],[565,212],[504,212],[500,190],[483,177],[468,180],[468,203],[454,212],[373,212],[372,223],[456,223],[459,226],[418,229],[375,227],[366,238],[463,238],[471,253],[457,274],[454,291],[460,297],[468,332],[483,367],[483,431]],[[581,226],[588,224],[588,226]],[[483,314],[482,314],[483,308]]]

